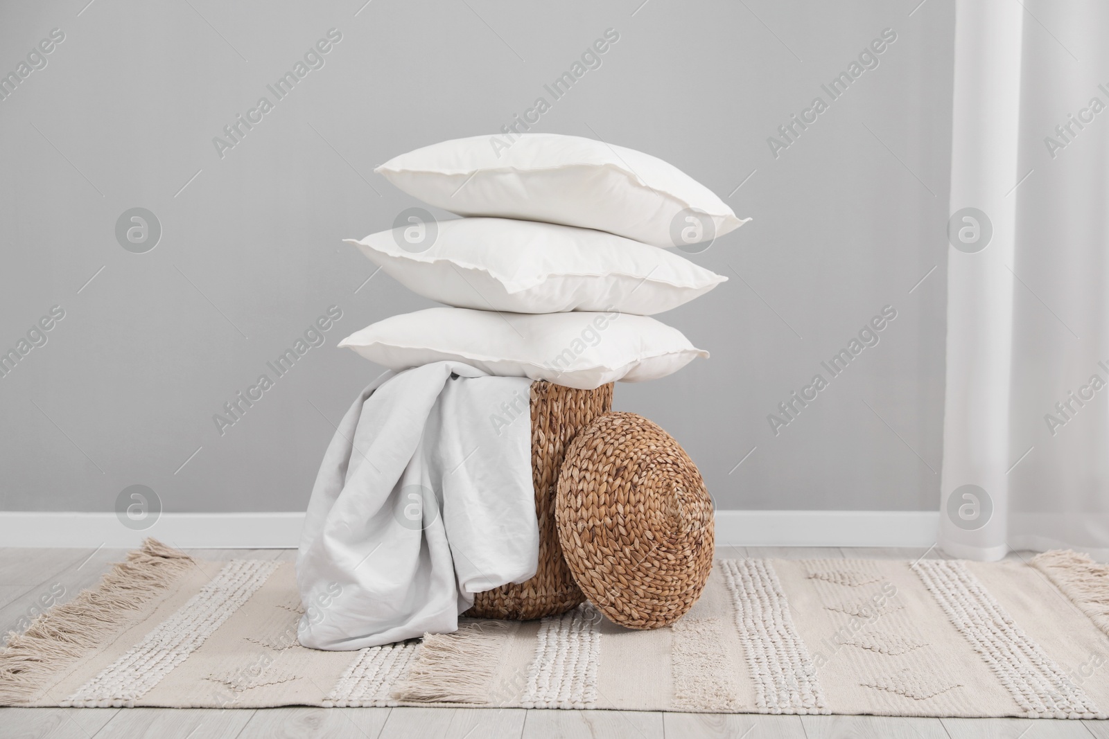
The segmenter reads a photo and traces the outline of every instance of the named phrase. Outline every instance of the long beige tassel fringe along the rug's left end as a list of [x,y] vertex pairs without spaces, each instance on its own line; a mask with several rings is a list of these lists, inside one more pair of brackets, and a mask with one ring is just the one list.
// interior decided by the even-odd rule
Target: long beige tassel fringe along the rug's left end
[[22,634],[10,632],[0,648],[0,706],[33,699],[51,676],[115,637],[129,614],[192,564],[184,552],[146,538],[99,585],[40,614]]

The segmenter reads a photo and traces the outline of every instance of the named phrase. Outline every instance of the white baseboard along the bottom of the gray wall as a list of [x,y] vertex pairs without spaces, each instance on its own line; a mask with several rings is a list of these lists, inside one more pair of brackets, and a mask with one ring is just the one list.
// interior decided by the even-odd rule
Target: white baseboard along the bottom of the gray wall
[[[0,546],[131,548],[146,536],[171,546],[295,548],[303,513],[163,513],[143,531],[114,513],[0,511]],[[934,511],[716,511],[716,544],[932,546]]]

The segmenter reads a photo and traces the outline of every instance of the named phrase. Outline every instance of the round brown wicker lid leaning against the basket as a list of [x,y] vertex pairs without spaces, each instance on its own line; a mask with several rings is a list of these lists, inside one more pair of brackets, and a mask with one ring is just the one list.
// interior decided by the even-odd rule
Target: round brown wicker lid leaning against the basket
[[700,597],[712,569],[712,500],[658,424],[634,413],[594,419],[567,450],[554,511],[574,581],[614,623],[659,628]]

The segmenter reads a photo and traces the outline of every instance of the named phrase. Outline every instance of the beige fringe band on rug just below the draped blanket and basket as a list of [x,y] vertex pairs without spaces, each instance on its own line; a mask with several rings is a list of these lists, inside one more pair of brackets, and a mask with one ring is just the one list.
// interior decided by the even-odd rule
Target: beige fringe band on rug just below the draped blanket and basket
[[508,624],[459,625],[454,634],[426,634],[408,676],[393,698],[411,701],[487,704],[500,668]]

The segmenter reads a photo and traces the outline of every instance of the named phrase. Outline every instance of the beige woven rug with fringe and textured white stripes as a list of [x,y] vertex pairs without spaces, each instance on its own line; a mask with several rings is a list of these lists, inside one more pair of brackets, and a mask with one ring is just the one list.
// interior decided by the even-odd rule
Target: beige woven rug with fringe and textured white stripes
[[590,607],[364,649],[296,644],[291,563],[147,541],[0,650],[0,705],[609,708],[1106,718],[1109,567],[721,560],[672,627]]

